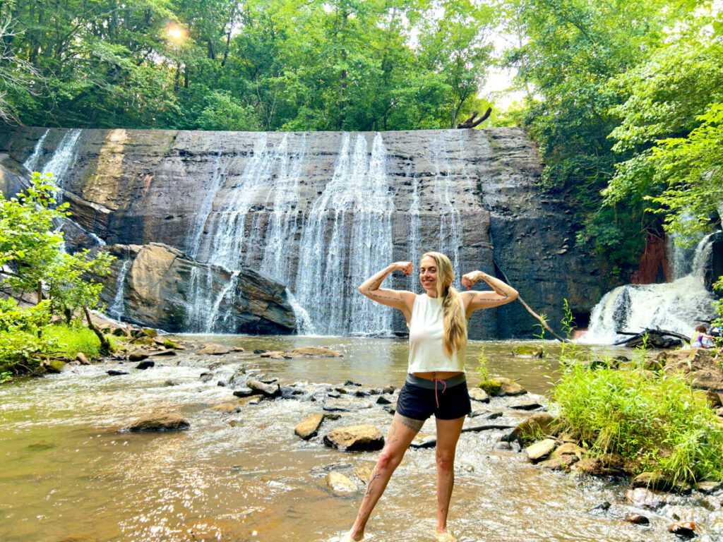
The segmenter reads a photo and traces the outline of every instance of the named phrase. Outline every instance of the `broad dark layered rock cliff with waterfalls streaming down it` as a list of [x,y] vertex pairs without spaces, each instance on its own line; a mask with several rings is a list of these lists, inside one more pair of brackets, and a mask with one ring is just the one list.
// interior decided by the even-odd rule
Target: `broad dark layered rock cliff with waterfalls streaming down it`
[[[584,323],[615,285],[605,262],[574,246],[573,210],[536,189],[542,163],[521,129],[70,132],[4,129],[0,164],[64,171],[74,220],[108,244],[161,242],[264,272],[317,332],[406,331],[401,313],[356,287],[429,250],[458,275],[504,272],[553,326],[563,298]],[[414,275],[385,284],[422,291]],[[470,337],[529,337],[535,324],[515,303],[476,314]]]

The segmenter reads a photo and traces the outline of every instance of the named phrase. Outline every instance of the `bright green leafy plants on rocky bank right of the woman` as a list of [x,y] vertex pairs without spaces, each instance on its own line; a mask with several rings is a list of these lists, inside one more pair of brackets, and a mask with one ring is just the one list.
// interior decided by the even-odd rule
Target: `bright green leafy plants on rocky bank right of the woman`
[[[637,472],[673,481],[723,477],[723,428],[702,392],[685,377],[598,364],[589,369],[566,358],[554,390],[565,429],[576,431],[592,453],[615,453]],[[609,365],[609,364],[607,364]]]

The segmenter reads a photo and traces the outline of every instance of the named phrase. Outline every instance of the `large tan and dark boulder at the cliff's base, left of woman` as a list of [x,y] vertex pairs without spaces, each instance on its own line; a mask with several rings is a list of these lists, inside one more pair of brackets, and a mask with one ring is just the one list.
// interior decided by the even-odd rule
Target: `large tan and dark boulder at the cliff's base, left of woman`
[[103,278],[102,299],[111,316],[169,332],[294,332],[285,288],[254,270],[230,273],[161,243],[103,250],[117,258]]

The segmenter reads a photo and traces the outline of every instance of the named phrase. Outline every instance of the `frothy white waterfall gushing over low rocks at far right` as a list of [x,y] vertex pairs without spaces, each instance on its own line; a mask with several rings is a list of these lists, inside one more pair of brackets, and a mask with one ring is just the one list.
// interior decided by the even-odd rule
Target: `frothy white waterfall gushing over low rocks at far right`
[[[610,344],[619,340],[618,330],[637,332],[645,327],[693,335],[694,328],[700,323],[697,320],[709,320],[713,313],[711,304],[715,298],[703,284],[712,235],[698,242],[692,262],[686,266],[690,269],[687,275],[672,283],[628,284],[606,293],[594,307],[589,330],[581,342]],[[675,257],[680,254],[685,252],[675,254]]]

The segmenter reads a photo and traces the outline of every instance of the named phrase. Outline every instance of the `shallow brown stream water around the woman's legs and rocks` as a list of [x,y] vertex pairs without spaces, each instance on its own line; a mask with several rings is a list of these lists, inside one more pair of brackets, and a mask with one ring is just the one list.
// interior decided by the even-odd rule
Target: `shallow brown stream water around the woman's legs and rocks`
[[[406,342],[340,337],[184,337],[244,348],[291,350],[328,346],[343,358],[231,361],[214,369],[230,376],[253,363],[283,382],[370,386],[403,383]],[[467,368],[474,384],[474,357]],[[542,400],[545,376],[554,367],[539,359],[514,358],[518,343],[484,343],[489,370],[514,379],[532,395],[495,399],[491,411],[509,403]],[[550,346],[550,345],[548,345]],[[552,346],[554,348],[554,346]],[[226,359],[233,358],[224,356]],[[64,373],[0,387],[0,540],[52,541],[75,535],[83,541],[328,541],[351,525],[361,491],[335,496],[325,484],[330,469],[374,465],[377,452],[345,453],[318,440],[301,441],[294,426],[320,403],[277,400],[244,406],[241,413],[208,410],[233,400],[217,379],[199,376],[218,358],[166,358],[147,371],[130,364],[75,366]],[[176,365],[176,364],[179,365]],[[108,369],[127,376],[109,377]],[[179,385],[166,387],[173,379]],[[142,413],[180,411],[191,423],[181,433],[116,432]],[[494,423],[516,423],[524,414],[505,410]],[[466,423],[479,424],[480,418]],[[230,423],[234,422],[234,423]],[[372,423],[386,433],[390,415],[381,408],[344,413],[335,427]],[[428,421],[423,432],[434,432]],[[523,455],[494,452],[502,431],[461,436],[450,527],[466,541],[673,541],[672,522],[655,517],[648,528],[625,522],[630,512],[622,488],[581,482],[540,470]],[[360,484],[361,487],[361,484]],[[591,507],[608,500],[608,512]],[[435,527],[433,449],[410,450],[377,506],[369,532],[375,541],[431,541]],[[714,512],[715,513],[715,512]],[[711,514],[713,517],[713,514]],[[713,518],[707,517],[709,522]],[[723,518],[720,531],[723,533]],[[711,525],[708,525],[711,528]],[[85,537],[85,538],[83,538]]]

